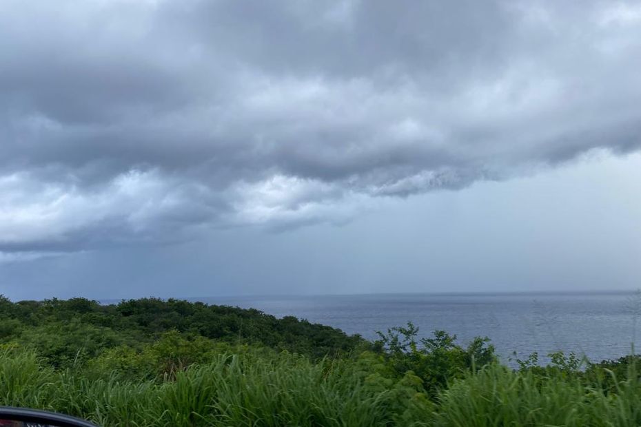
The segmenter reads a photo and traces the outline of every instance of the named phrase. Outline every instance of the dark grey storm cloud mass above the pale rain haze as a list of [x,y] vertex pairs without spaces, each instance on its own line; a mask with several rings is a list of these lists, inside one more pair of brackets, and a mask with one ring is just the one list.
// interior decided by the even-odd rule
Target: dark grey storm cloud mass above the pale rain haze
[[343,222],[638,149],[638,3],[403,6],[4,1],[0,252]]

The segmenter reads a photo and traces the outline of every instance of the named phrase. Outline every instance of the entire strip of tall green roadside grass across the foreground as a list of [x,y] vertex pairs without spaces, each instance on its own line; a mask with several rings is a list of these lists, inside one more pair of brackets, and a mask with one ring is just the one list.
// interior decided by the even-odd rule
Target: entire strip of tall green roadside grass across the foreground
[[[101,426],[639,426],[630,366],[608,386],[582,375],[491,364],[431,401],[411,372],[385,377],[374,359],[221,354],[164,378],[54,371],[30,351],[0,350],[0,404],[57,410]],[[611,384],[614,384],[613,388]]]

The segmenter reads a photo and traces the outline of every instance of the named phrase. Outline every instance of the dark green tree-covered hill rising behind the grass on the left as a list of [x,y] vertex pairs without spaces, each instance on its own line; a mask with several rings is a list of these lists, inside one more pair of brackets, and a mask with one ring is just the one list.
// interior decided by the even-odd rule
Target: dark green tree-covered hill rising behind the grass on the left
[[[145,344],[162,336],[179,340],[183,335],[186,341],[176,343],[184,347],[189,342],[202,351],[214,341],[267,346],[313,358],[349,353],[368,345],[358,335],[348,336],[296,317],[277,319],[255,309],[173,299],[143,298],[109,305],[84,298],[12,303],[0,295],[0,320],[0,342],[34,348],[56,367],[91,360],[119,346],[143,351]],[[163,335],[167,333],[170,335]],[[201,350],[191,348],[193,353]],[[184,366],[191,359],[176,355],[176,362]]]

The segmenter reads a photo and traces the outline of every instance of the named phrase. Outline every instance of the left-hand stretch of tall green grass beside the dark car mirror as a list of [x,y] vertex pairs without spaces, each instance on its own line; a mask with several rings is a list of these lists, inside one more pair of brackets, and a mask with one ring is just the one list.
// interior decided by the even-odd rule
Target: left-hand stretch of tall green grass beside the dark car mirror
[[391,393],[340,362],[219,355],[167,380],[54,372],[30,352],[0,353],[0,404],[56,410],[101,426],[383,426]]

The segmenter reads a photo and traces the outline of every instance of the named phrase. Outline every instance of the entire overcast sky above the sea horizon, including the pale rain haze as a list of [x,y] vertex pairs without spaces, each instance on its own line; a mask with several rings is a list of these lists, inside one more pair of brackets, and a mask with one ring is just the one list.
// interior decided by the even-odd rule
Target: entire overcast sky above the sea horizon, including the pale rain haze
[[638,1],[0,1],[0,293],[641,287]]

